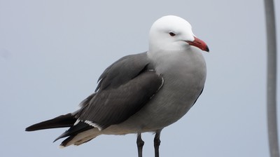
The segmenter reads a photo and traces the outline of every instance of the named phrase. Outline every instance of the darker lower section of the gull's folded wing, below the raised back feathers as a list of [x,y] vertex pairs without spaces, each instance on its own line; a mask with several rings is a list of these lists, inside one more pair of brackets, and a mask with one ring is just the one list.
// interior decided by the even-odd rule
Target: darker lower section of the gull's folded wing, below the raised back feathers
[[118,88],[99,90],[78,118],[97,123],[102,129],[122,123],[144,107],[161,86],[161,76],[145,71]]

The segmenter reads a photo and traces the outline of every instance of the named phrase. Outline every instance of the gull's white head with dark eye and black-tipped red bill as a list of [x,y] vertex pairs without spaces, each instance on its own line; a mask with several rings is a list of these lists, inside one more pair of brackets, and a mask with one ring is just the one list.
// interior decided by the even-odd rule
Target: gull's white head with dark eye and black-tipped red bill
[[168,15],[153,23],[149,34],[149,52],[188,50],[190,46],[209,52],[207,44],[193,34],[192,26],[188,21]]

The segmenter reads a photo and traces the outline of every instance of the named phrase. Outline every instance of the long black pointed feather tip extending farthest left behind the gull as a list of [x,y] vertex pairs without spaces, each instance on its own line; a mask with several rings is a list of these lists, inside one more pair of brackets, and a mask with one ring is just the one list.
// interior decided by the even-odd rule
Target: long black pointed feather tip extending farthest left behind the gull
[[52,118],[48,121],[42,121],[41,123],[31,125],[27,127],[25,131],[71,127],[76,121],[77,119],[75,118],[75,114],[65,114]]

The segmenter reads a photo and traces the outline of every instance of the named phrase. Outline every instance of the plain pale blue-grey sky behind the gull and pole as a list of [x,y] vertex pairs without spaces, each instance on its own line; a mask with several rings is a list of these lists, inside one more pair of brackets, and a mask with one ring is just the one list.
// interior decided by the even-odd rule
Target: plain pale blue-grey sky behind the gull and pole
[[[136,135],[102,135],[59,149],[61,141],[52,141],[65,128],[25,128],[78,109],[106,67],[148,50],[148,31],[164,15],[188,20],[211,52],[204,53],[204,93],[186,116],[162,131],[161,157],[269,156],[260,0],[0,0],[0,156],[137,156]],[[144,156],[153,156],[153,135],[143,139]]]

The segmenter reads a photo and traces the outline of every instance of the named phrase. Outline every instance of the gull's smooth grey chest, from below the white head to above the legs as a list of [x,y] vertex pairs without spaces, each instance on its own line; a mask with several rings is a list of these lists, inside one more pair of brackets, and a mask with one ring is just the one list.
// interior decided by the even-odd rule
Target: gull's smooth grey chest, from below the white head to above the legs
[[151,104],[147,106],[151,121],[170,125],[178,121],[193,106],[204,88],[206,79],[203,58],[195,60],[196,62],[194,58],[179,58],[177,62],[156,69],[165,82]]

